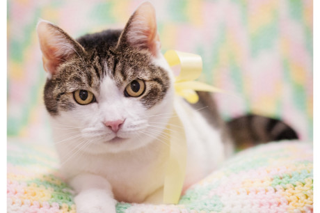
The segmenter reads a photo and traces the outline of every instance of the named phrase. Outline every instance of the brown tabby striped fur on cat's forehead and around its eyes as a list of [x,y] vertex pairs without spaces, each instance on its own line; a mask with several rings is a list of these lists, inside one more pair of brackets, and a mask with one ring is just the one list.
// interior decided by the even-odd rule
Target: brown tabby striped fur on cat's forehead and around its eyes
[[72,93],[75,90],[86,89],[99,93],[99,85],[106,75],[120,89],[134,79],[145,81],[147,89],[139,99],[147,108],[163,100],[170,85],[167,72],[154,65],[147,50],[118,45],[122,31],[107,30],[82,36],[76,43],[70,42],[72,38],[58,26],[51,23],[47,25],[74,49],[68,58],[58,61],[56,71],[45,85],[45,105],[52,116],[59,111],[74,109],[76,103]]

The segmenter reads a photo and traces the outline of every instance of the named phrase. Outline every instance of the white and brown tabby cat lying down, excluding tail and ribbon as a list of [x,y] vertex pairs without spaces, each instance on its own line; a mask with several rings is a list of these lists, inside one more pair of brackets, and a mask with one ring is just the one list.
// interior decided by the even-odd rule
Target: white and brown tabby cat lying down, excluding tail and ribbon
[[198,93],[193,105],[175,96],[151,3],[142,3],[123,30],[74,40],[40,20],[37,31],[48,74],[45,107],[77,212],[115,212],[117,201],[156,202],[169,155],[163,131],[173,109],[186,133],[184,189],[233,152],[212,95]]

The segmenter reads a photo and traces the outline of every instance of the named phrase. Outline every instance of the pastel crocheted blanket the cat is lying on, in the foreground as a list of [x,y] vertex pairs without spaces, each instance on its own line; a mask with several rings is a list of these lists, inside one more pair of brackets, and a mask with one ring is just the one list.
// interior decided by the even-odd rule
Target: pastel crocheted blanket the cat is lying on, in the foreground
[[[8,141],[8,212],[76,212],[51,145]],[[178,205],[118,203],[117,212],[313,212],[312,143],[243,150],[194,184]]]

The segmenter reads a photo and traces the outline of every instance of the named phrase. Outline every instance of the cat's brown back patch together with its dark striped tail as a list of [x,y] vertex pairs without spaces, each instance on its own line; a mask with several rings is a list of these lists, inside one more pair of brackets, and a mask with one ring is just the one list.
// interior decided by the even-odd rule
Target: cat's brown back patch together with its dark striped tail
[[198,95],[199,102],[192,106],[201,109],[200,113],[207,122],[221,131],[227,156],[232,154],[232,147],[242,150],[269,141],[298,139],[294,129],[275,118],[248,114],[225,123],[218,112],[214,95],[207,92],[198,92]]

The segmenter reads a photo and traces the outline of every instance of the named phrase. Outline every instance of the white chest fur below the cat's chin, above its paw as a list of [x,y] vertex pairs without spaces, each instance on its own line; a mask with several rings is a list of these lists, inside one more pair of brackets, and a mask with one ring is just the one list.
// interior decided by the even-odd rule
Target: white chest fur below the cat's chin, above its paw
[[163,184],[168,148],[162,143],[117,154],[79,152],[70,159],[65,153],[72,148],[59,144],[56,147],[67,179],[80,173],[100,175],[109,181],[117,200],[141,203]]

